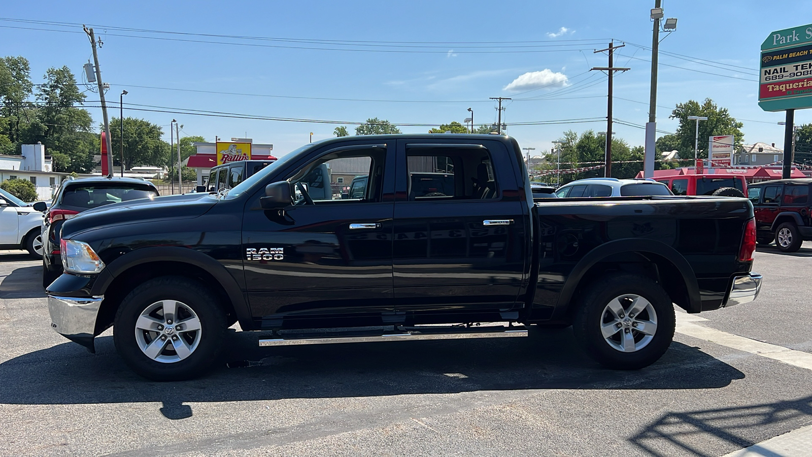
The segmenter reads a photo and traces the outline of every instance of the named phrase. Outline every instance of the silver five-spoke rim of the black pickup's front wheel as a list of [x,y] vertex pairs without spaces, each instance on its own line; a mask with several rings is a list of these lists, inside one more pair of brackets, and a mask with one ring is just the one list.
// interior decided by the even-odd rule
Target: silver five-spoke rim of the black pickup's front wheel
[[192,355],[202,333],[197,313],[175,300],[154,302],[136,320],[139,349],[161,363],[176,363]]

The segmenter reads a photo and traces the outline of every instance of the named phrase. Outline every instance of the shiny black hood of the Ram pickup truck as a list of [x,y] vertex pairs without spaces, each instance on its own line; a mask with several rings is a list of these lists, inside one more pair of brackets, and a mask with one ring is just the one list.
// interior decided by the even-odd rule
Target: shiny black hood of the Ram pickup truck
[[92,228],[136,224],[147,220],[192,219],[205,214],[217,202],[217,198],[210,194],[184,194],[114,203],[82,211],[65,221],[62,234],[63,237],[70,237]]

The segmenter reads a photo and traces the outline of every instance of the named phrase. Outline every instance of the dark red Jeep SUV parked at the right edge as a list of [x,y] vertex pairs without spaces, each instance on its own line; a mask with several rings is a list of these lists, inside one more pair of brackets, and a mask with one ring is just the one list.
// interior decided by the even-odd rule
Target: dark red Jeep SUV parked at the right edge
[[749,185],[747,198],[753,203],[756,240],[760,244],[775,241],[784,252],[801,249],[801,242],[812,241],[812,179],[764,181]]

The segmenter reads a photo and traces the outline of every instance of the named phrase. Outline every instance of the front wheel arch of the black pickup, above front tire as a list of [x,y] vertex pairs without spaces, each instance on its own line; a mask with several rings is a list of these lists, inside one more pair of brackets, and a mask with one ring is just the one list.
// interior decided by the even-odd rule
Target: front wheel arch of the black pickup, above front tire
[[96,319],[96,334],[113,324],[123,298],[137,285],[159,276],[187,276],[213,289],[233,313],[243,329],[253,325],[244,294],[226,268],[197,250],[179,246],[148,247],[122,255],[107,265],[107,275],[99,276],[92,294],[105,300]]

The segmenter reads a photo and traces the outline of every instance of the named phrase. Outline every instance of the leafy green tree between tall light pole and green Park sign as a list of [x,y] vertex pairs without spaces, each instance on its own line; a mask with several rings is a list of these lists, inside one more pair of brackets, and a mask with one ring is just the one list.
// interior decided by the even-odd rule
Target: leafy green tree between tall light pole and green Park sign
[[[699,102],[689,100],[685,103],[678,103],[672,114],[668,116],[671,119],[680,120],[680,127],[676,129],[675,134],[679,141],[667,145],[678,144],[675,149],[683,153],[680,154],[680,157],[685,156],[688,151],[693,152],[697,121],[689,120],[689,115],[706,116],[708,118],[708,120],[699,121],[698,157],[700,159],[707,158],[708,137],[713,135],[734,135],[736,148],[741,147],[745,139],[745,134],[741,133],[744,124],[730,115],[728,108],[720,108],[711,98],[706,98],[701,105]],[[690,157],[693,157],[693,154]]]

